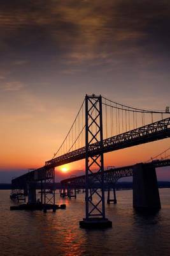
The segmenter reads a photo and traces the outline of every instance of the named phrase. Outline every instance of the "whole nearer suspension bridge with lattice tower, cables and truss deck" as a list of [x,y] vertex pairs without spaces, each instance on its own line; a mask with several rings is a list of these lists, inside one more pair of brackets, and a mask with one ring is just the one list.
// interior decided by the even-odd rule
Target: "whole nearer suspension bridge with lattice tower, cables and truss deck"
[[[49,197],[45,186],[48,182],[55,182],[55,167],[85,159],[86,214],[80,226],[109,227],[111,222],[106,219],[104,206],[104,153],[169,136],[169,108],[166,111],[139,109],[101,95],[86,95],[71,129],[52,159],[46,161],[43,167],[13,179],[12,186],[13,189],[25,188],[29,184],[29,202],[32,203],[36,200],[32,184],[41,182],[41,203],[54,205],[55,192]],[[138,169],[143,172],[143,167]],[[97,186],[96,180],[90,179],[92,175],[97,177]],[[91,200],[89,191],[92,188],[97,202]]]

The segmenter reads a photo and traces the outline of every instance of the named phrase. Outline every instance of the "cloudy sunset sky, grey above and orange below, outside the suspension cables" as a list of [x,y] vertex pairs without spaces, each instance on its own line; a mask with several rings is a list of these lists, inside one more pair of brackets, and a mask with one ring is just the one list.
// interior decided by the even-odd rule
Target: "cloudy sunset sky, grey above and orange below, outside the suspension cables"
[[[1,0],[0,33],[0,183],[52,158],[86,93],[170,105],[168,0]],[[169,144],[118,150],[104,164],[146,161]],[[81,173],[84,161],[67,167]]]

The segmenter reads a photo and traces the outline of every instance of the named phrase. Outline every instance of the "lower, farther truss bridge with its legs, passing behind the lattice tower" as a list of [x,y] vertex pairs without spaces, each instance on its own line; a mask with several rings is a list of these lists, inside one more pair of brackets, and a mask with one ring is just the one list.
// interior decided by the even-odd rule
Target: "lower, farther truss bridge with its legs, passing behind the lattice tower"
[[[145,166],[148,166],[148,167],[152,165],[155,168],[165,167],[165,166],[170,166],[170,159],[157,159],[149,163],[142,163],[142,164],[145,164]],[[130,165],[130,166],[122,166],[118,168],[110,168],[104,171],[104,189],[108,192],[108,199],[107,199],[108,204],[110,204],[110,202],[114,202],[114,204],[117,204],[117,196],[116,196],[117,182],[119,179],[122,179],[125,177],[132,177],[135,166],[136,164]],[[100,179],[101,179],[101,173],[93,173],[89,175],[89,180],[92,181],[92,184],[93,184],[93,186],[91,186],[91,189],[90,189],[91,200],[93,197],[94,189],[100,188],[98,184],[98,180]],[[85,175],[61,180],[60,183],[62,185],[62,188],[60,189],[60,196],[62,196],[63,198],[65,197],[76,198],[76,195],[79,194],[80,189],[83,189],[83,191],[85,189],[85,186],[86,186]],[[111,189],[113,189],[113,199],[110,198]]]

